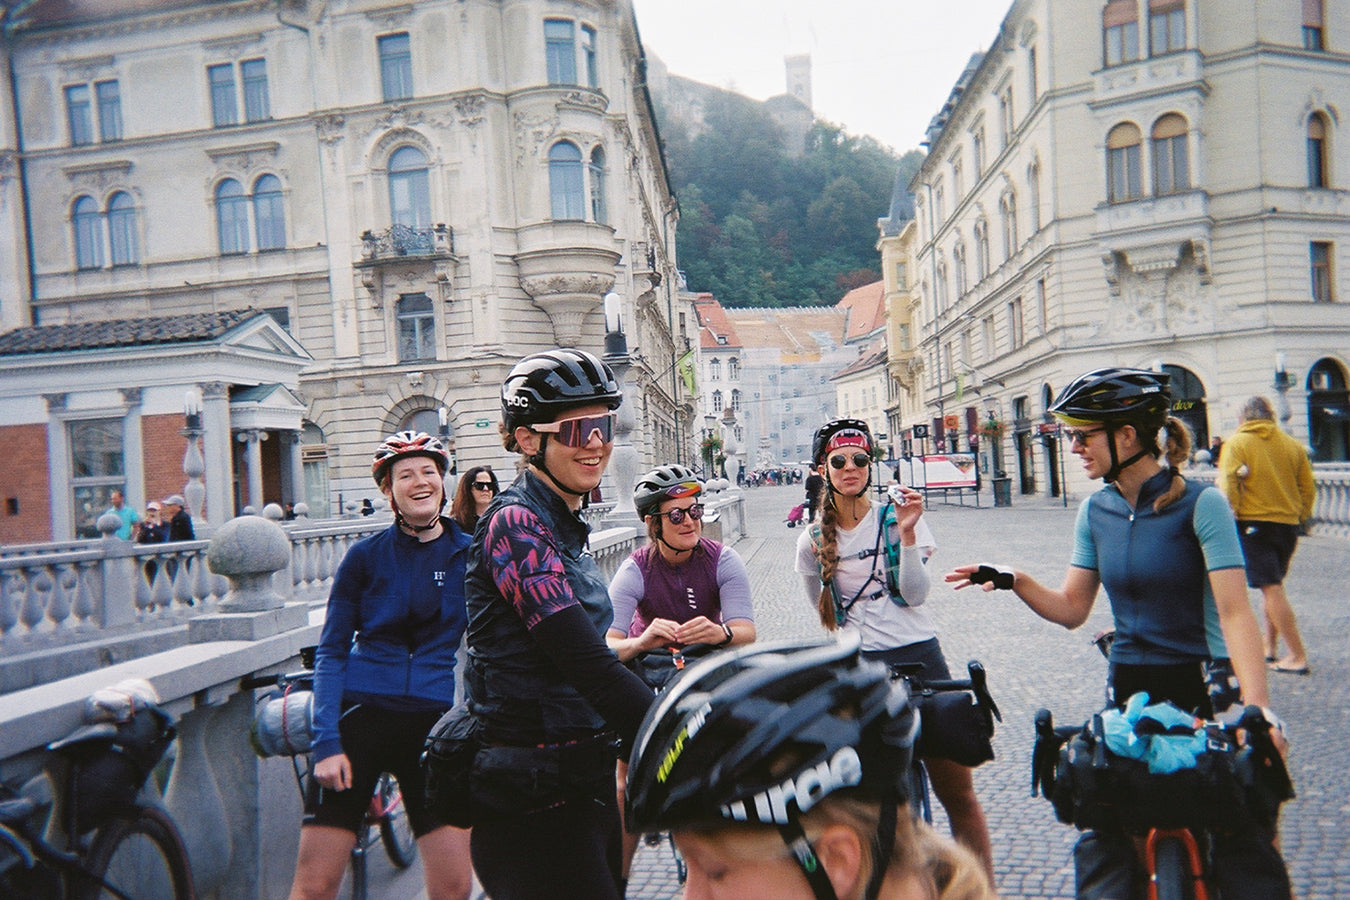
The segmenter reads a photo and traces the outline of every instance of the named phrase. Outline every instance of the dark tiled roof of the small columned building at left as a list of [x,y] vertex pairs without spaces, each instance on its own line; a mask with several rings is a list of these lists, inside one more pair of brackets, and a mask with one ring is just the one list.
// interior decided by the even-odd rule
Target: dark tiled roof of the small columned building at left
[[258,309],[235,309],[186,316],[150,316],[115,318],[69,325],[30,325],[0,335],[0,355],[55,354],[100,347],[139,347],[150,344],[188,344],[215,340],[263,314]]

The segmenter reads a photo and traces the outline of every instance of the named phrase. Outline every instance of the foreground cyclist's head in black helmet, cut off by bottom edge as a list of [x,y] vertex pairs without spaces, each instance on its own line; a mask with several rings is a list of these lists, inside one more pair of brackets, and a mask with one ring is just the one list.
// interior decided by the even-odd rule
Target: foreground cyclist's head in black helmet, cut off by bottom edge
[[975,857],[905,808],[917,727],[856,633],[699,660],[639,731],[629,827],[672,831],[687,900],[992,897]]

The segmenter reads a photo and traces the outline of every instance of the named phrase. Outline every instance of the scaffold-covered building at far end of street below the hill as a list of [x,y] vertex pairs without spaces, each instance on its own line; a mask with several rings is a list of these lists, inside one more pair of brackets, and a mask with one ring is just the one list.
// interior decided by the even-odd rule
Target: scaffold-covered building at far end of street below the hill
[[857,358],[837,306],[728,309],[742,344],[738,421],[752,468],[810,461],[815,429],[836,414],[830,376]]

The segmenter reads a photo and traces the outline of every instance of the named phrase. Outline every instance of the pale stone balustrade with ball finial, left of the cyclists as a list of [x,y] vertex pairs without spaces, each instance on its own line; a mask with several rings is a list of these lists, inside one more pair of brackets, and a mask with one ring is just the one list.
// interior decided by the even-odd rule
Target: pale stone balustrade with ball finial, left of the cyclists
[[[259,517],[242,517],[221,526],[211,541],[177,545],[171,553],[180,569],[171,578],[173,586],[180,580],[194,586],[194,565],[211,569],[209,578],[202,576],[209,583],[205,592],[190,587],[180,598],[171,588],[165,600],[174,614],[182,611],[180,607],[186,609],[186,625],[174,626],[184,640],[169,649],[7,694],[0,703],[0,777],[19,783],[36,776],[43,748],[81,723],[86,696],[126,677],[146,679],[177,718],[178,739],[158,800],[182,831],[197,896],[202,900],[285,896],[294,870],[300,797],[289,760],[254,756],[248,727],[255,698],[252,691],[239,690],[239,680],[298,668],[300,648],[319,641],[324,607],[317,598],[327,594],[342,556],[362,534],[386,526],[387,519],[343,519],[298,522],[282,529]],[[101,627],[109,609],[115,618],[136,623],[144,610],[135,603],[126,600],[109,607],[104,602],[101,591],[108,579],[103,572],[108,565],[130,583],[139,578],[136,571],[143,571],[146,555],[115,538],[89,544],[80,551],[62,548],[59,553],[24,556],[3,571],[26,582],[24,591],[27,583],[51,580],[53,586],[39,594],[40,602],[34,602],[49,606],[58,582],[62,596],[81,592],[81,583],[68,573],[81,567],[93,572],[85,582],[90,599],[61,599],[61,609],[53,611],[70,634],[80,627]],[[591,534],[590,549],[610,576],[634,545],[633,529],[608,529]],[[38,559],[46,563],[39,564]],[[169,559],[155,557],[155,561],[166,565]],[[153,583],[154,579],[147,582],[151,595]],[[128,584],[123,590],[127,596],[134,594]],[[158,603],[150,613],[155,613]],[[27,599],[20,603],[24,604]],[[80,615],[65,611],[68,604],[72,610],[78,607]],[[46,610],[40,622],[38,634],[57,627]],[[11,630],[18,627],[14,625]],[[8,654],[5,648],[4,658]],[[146,789],[154,792],[155,784],[153,779]]]

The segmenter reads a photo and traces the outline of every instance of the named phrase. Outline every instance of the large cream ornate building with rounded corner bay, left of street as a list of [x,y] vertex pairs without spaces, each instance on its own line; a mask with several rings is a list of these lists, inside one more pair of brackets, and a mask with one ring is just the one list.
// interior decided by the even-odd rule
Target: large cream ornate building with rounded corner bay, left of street
[[[549,347],[601,352],[613,290],[633,444],[641,464],[676,457],[695,407],[671,374],[678,209],[629,0],[31,0],[3,16],[0,331],[267,310],[312,362],[302,478],[265,499],[321,509],[369,495],[371,449],[405,428],[510,471],[502,378]],[[126,371],[109,390],[135,387]],[[7,447],[27,425],[11,402]],[[140,495],[147,425],[104,406],[144,451],[119,475]],[[207,428],[228,444],[238,422]],[[208,460],[205,478],[238,472]],[[46,532],[74,502],[24,505],[15,525],[73,537]]]

